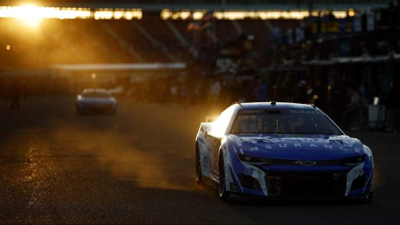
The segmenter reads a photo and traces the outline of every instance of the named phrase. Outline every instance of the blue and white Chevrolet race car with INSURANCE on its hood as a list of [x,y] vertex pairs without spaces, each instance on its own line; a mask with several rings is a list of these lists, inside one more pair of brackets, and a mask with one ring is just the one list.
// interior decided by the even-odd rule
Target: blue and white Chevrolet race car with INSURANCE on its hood
[[196,179],[223,199],[373,197],[373,156],[314,105],[242,103],[196,136]]

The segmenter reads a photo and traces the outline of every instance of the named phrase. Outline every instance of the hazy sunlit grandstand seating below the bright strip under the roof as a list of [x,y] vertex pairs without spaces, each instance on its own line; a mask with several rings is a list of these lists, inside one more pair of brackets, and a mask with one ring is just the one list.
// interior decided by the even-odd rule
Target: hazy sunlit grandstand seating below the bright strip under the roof
[[[253,35],[254,50],[258,55],[265,56],[267,50],[278,46],[271,31],[273,27],[279,27],[284,36],[287,29],[300,25],[300,21],[294,19],[268,22],[254,19],[235,22],[215,20],[209,26],[208,33],[207,29],[193,33],[187,30],[188,23],[184,20],[163,21],[159,13],[151,12],[144,13],[142,19],[133,21],[43,19],[36,28],[17,23],[15,19],[2,18],[0,45],[3,50],[0,68],[47,68],[51,64],[70,63],[188,62],[196,57],[191,48],[203,51],[211,46],[215,50],[230,40],[238,40],[241,35]],[[361,55],[361,40],[353,39],[348,42],[347,52]],[[374,39],[374,42],[378,41],[380,39]],[[11,46],[10,50],[4,48],[7,45]],[[374,46],[368,46],[368,49],[373,48]],[[290,51],[274,54],[274,57],[277,60],[290,60],[307,54],[308,59],[312,59],[317,57],[317,53],[320,58],[340,54],[346,56],[342,52],[343,50],[327,41],[323,48],[294,47]],[[265,61],[265,57],[262,60]]]

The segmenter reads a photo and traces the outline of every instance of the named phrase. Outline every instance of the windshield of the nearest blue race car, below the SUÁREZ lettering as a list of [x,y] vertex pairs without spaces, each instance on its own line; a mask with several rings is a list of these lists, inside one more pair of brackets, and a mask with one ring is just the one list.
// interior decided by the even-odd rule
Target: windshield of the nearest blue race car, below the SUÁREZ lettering
[[240,110],[231,133],[233,134],[335,134],[339,128],[319,110]]

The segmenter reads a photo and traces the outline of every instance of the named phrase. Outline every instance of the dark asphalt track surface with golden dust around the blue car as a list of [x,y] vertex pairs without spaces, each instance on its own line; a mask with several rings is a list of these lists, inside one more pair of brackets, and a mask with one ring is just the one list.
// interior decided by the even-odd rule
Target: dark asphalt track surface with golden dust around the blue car
[[375,199],[224,202],[194,180],[194,138],[212,109],[132,103],[75,114],[73,97],[0,103],[0,223],[399,223],[400,148],[373,151]]

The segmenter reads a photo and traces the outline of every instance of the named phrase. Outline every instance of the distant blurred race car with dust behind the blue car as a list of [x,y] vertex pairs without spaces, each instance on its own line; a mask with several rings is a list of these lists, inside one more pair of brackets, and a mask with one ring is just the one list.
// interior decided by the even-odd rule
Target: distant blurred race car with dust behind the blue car
[[103,112],[115,114],[117,100],[106,89],[84,89],[76,97],[76,112],[78,114]]

